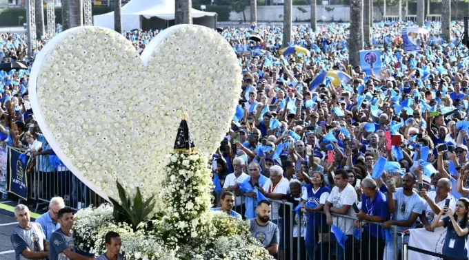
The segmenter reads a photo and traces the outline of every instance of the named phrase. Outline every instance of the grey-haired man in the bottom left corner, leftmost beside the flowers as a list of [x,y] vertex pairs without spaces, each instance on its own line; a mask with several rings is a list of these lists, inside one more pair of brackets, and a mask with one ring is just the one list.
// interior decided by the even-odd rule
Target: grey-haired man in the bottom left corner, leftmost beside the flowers
[[27,206],[19,204],[14,207],[14,219],[18,226],[14,228],[11,241],[17,260],[46,259],[49,257],[49,243],[41,225],[30,222],[30,211]]

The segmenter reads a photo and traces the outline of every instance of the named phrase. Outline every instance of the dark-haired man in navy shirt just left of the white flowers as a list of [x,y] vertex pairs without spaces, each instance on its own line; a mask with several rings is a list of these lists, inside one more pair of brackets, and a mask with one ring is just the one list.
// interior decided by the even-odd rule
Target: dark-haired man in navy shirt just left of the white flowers
[[73,239],[73,210],[62,208],[58,214],[60,228],[50,236],[50,260],[95,260],[75,252]]

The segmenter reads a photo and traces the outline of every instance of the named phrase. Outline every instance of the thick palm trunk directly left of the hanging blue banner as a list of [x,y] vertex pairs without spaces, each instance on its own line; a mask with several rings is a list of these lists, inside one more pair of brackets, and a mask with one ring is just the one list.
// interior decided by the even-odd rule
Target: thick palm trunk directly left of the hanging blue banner
[[350,0],[350,37],[348,61],[353,67],[360,65],[359,51],[363,50],[363,0]]

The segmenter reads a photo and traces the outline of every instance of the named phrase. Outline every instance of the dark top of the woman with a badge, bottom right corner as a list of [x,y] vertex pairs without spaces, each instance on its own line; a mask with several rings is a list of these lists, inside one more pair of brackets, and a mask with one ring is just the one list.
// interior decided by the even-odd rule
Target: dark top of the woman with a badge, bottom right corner
[[[457,257],[460,259],[467,259],[468,258],[468,234],[463,237],[459,237],[455,228],[453,228],[451,224],[451,220],[449,217],[445,217],[443,219],[444,227],[446,229],[446,238],[445,243],[443,244],[443,254],[447,255],[448,257]],[[469,223],[466,224],[466,228],[469,228]],[[450,248],[450,240],[455,240],[455,245]]]

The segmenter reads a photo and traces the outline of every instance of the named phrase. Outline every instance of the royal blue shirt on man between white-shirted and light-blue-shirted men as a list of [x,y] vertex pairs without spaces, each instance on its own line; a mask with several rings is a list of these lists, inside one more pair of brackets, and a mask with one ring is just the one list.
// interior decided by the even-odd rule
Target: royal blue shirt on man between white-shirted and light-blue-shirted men
[[[390,217],[386,196],[379,190],[372,201],[370,201],[369,197],[366,197],[365,193],[361,195],[361,210],[368,216],[378,216],[383,219],[389,219]],[[371,225],[370,228],[370,224],[366,224],[365,230],[367,230],[372,237],[383,237],[383,228],[381,228],[381,226]]]

